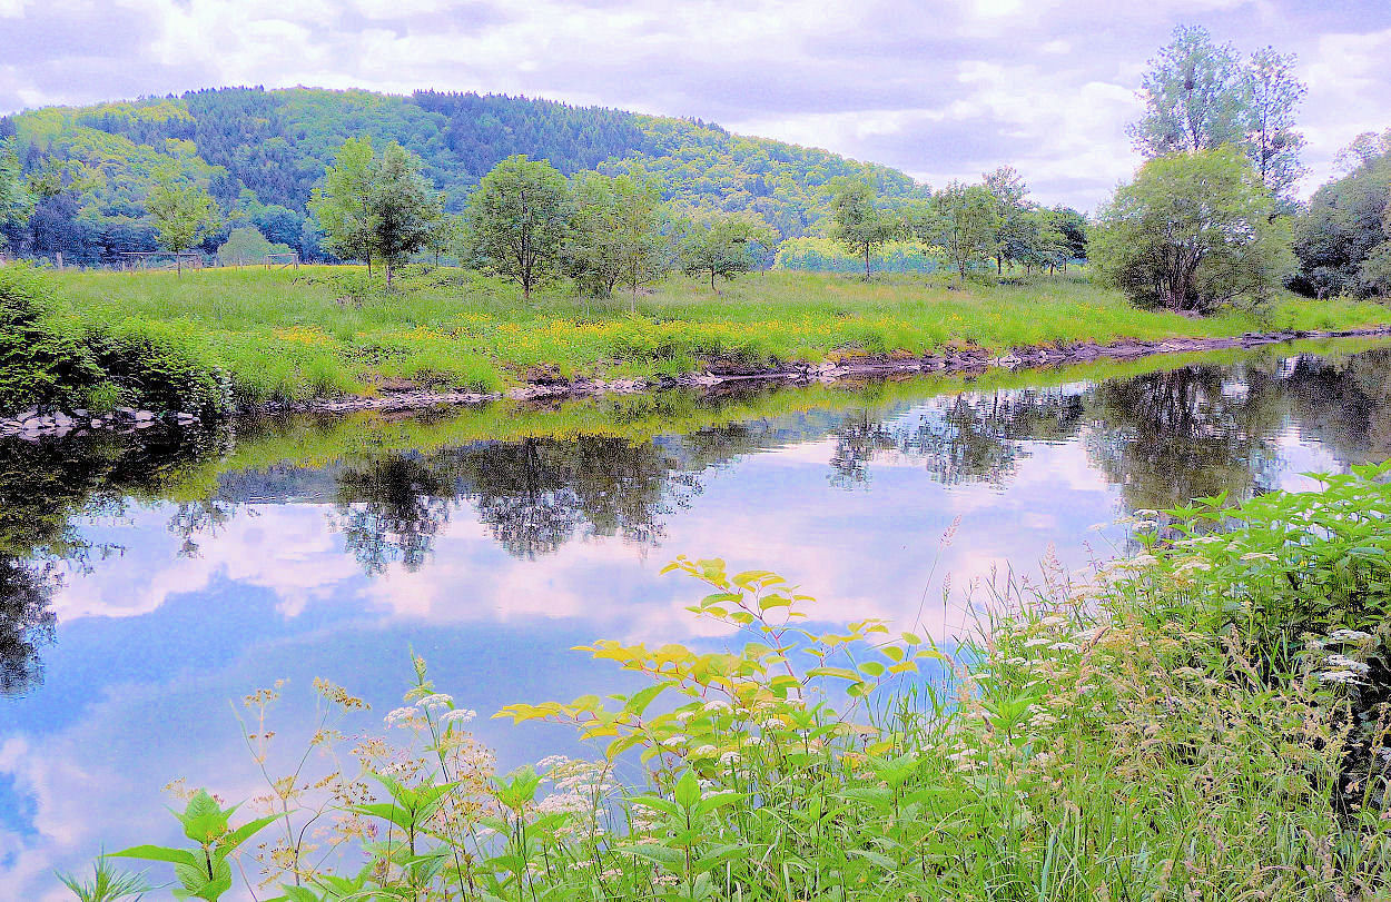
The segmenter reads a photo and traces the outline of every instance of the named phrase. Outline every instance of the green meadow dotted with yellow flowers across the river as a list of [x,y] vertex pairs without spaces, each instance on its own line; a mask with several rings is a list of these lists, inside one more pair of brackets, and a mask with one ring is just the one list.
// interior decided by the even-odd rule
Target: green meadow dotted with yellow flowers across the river
[[359,267],[299,271],[58,274],[63,303],[89,325],[156,324],[232,374],[245,402],[373,393],[384,379],[494,391],[537,367],[566,377],[677,375],[712,359],[754,366],[844,354],[919,354],[975,342],[1237,335],[1391,322],[1391,310],[1281,297],[1259,315],[1206,320],[1131,307],[1077,277],[953,289],[921,277],[765,272],[722,286],[672,278],[636,299],[563,292],[524,302],[466,270],[415,271],[402,290],[367,286]]

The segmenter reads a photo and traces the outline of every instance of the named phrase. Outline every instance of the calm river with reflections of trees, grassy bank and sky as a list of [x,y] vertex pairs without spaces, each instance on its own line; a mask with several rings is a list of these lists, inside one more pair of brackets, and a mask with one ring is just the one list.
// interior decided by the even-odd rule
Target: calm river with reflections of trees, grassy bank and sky
[[175,777],[256,795],[232,702],[275,678],[288,752],[319,675],[380,730],[413,648],[506,769],[581,749],[487,714],[626,685],[572,645],[729,639],[658,575],[679,553],[950,645],[992,571],[1114,555],[1124,527],[1096,524],[1387,456],[1370,343],[0,442],[0,898],[174,841]]

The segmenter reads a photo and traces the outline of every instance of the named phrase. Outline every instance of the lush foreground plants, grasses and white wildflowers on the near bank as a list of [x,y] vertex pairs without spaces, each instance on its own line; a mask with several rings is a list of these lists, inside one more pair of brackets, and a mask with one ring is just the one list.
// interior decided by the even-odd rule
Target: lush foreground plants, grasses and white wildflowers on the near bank
[[747,643],[598,641],[645,685],[497,714],[568,724],[593,760],[495,773],[419,657],[380,720],[317,681],[313,721],[275,723],[275,684],[241,714],[263,796],[181,792],[185,846],[97,870],[294,902],[1383,898],[1388,473],[1142,511],[1138,553],[996,587],[951,649],[914,624],[808,628],[778,575],[677,559],[709,592],[691,610]]

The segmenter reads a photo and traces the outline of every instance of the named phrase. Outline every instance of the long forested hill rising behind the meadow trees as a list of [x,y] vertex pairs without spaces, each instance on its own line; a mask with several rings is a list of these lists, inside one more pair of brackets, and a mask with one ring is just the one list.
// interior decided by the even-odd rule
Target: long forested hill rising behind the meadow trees
[[417,154],[451,210],[515,153],[548,158],[566,175],[643,165],[669,199],[750,210],[789,238],[815,229],[826,213],[819,189],[836,175],[867,175],[887,196],[915,190],[897,170],[718,125],[498,95],[223,88],[26,111],[0,120],[0,138],[11,135],[40,202],[10,247],[61,250],[82,264],[154,247],[145,199],[156,178],[206,185],[227,228],[253,224],[314,257],[306,202],[339,145],[360,135]]

